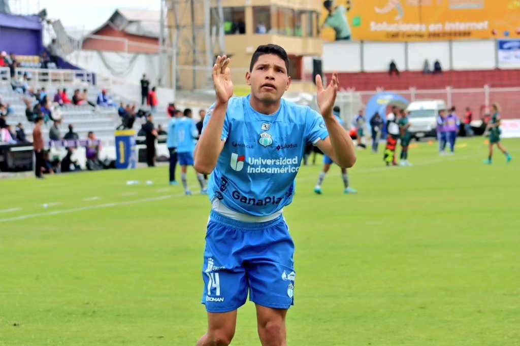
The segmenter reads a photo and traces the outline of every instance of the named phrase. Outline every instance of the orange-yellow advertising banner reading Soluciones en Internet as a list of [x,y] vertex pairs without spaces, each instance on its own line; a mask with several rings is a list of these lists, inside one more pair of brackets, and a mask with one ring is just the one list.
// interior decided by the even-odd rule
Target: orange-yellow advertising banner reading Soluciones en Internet
[[449,41],[520,37],[520,0],[327,0],[326,41]]

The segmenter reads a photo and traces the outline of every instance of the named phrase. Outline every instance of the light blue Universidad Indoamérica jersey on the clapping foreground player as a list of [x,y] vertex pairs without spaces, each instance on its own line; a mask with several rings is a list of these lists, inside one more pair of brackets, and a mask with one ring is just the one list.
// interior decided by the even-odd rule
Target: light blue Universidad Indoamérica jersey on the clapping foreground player
[[246,215],[274,214],[292,202],[305,145],[328,136],[323,117],[309,107],[282,99],[275,114],[265,115],[253,110],[250,96],[231,98],[224,149],[207,188],[211,201]]

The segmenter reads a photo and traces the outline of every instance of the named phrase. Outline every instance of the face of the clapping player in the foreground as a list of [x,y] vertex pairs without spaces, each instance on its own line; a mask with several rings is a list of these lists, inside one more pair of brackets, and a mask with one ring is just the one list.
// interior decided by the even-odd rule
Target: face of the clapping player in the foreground
[[245,74],[245,80],[251,85],[251,94],[265,103],[278,102],[291,85],[285,62],[274,54],[260,56],[253,70]]

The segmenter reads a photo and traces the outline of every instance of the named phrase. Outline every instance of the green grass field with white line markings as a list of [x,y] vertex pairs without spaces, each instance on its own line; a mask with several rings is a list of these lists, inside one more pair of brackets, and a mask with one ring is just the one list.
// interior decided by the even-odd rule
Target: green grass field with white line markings
[[[358,195],[337,167],[315,195],[321,157],[302,167],[289,345],[520,345],[520,140],[503,143],[508,165],[483,165],[481,138],[447,157],[420,143],[413,167],[358,152]],[[210,203],[166,183],[167,167],[0,181],[0,345],[194,346]],[[232,345],[259,345],[250,302]]]

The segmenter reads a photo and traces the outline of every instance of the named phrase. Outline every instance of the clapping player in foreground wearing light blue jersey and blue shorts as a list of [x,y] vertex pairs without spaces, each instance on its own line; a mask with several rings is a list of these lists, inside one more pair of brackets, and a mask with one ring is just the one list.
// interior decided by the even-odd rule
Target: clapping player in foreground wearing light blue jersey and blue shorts
[[321,114],[281,99],[291,85],[287,52],[259,46],[245,79],[247,97],[231,97],[229,59],[213,66],[216,102],[204,119],[195,169],[210,174],[212,211],[207,223],[202,276],[208,327],[197,346],[228,345],[237,309],[256,305],[264,346],[285,346],[285,315],[293,304],[294,244],[282,215],[292,202],[307,143],[340,167],[356,161],[354,144],[332,114],[337,74],[323,88],[316,77]]

